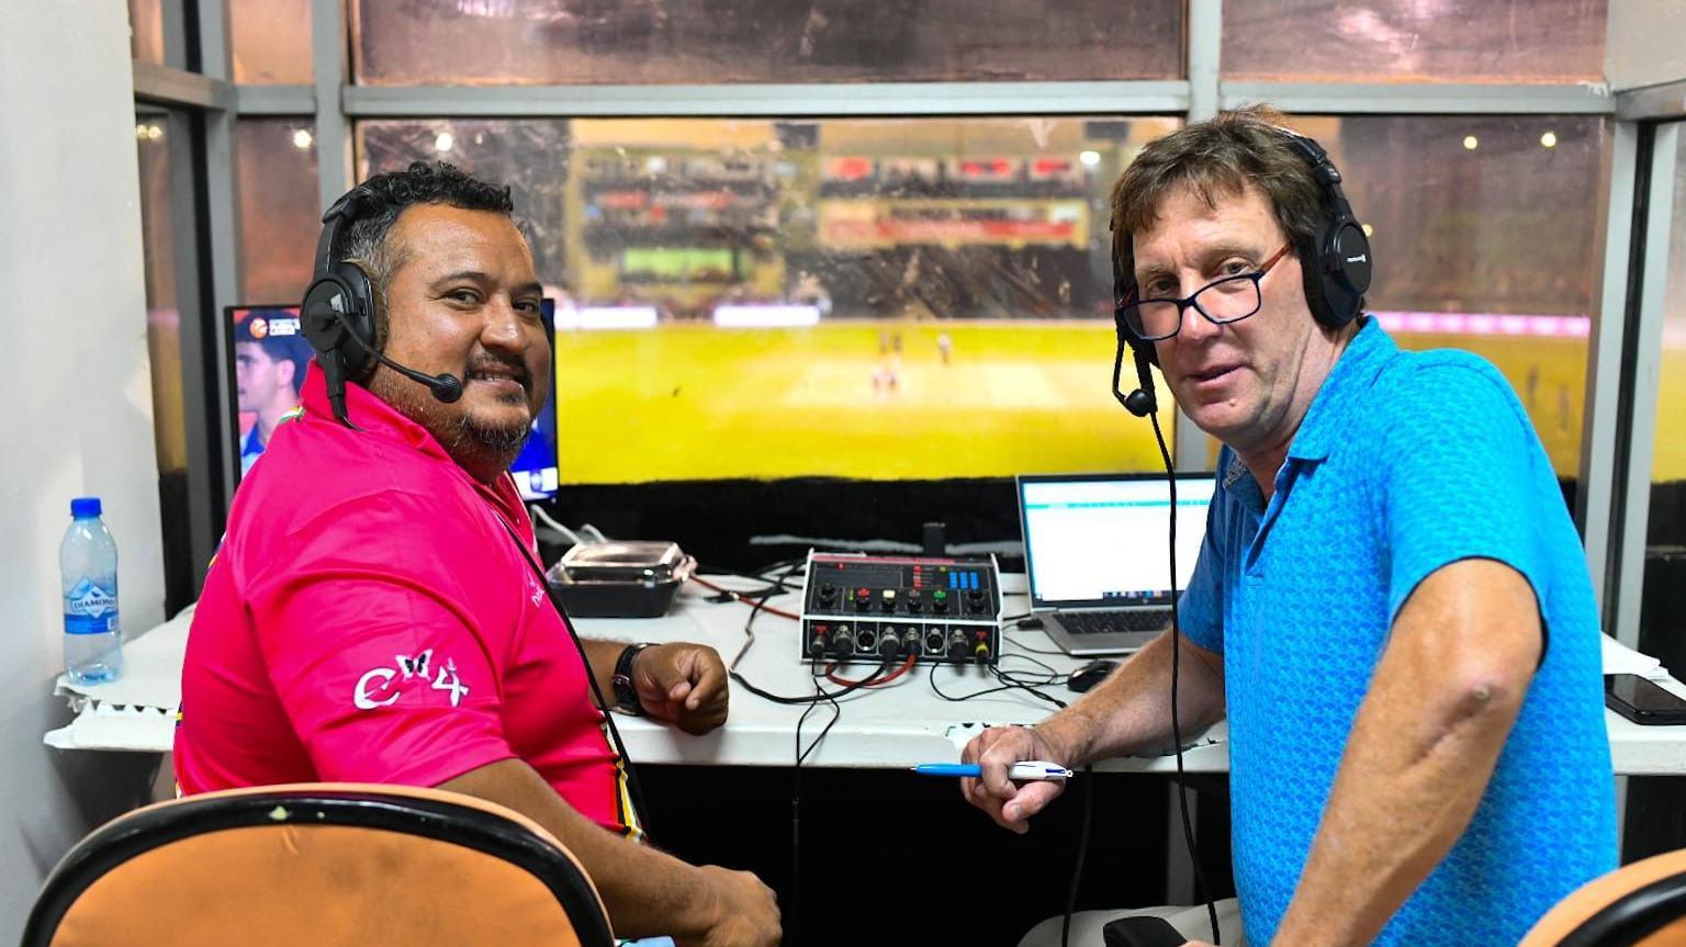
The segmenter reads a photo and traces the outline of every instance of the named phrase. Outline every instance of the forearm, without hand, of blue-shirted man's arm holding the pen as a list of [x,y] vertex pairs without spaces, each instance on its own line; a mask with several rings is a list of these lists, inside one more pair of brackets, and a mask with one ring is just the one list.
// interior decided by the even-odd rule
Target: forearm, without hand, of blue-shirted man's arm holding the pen
[[[1199,733],[1224,716],[1222,659],[1180,642],[1177,723],[1182,736]],[[1062,750],[1071,765],[1172,748],[1170,718],[1172,632],[1138,650],[1111,677],[1072,706],[1037,725],[1037,733]]]

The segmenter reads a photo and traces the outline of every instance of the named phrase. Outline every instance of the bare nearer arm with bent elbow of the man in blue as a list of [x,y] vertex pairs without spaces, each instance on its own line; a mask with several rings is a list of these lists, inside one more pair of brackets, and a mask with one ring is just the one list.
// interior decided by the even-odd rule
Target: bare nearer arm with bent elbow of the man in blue
[[1469,826],[1539,657],[1531,591],[1494,568],[1448,566],[1401,612],[1276,944],[1369,944]]

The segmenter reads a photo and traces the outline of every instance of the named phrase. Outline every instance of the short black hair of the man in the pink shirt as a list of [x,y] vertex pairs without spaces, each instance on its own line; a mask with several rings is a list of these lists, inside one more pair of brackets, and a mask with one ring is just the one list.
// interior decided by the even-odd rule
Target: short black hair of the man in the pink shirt
[[481,180],[447,162],[411,162],[405,170],[384,172],[361,185],[362,199],[356,217],[347,221],[334,248],[334,259],[354,259],[369,273],[374,288],[386,297],[393,273],[403,265],[400,249],[386,236],[405,209],[416,204],[443,204],[464,211],[494,211],[514,216],[509,185]]

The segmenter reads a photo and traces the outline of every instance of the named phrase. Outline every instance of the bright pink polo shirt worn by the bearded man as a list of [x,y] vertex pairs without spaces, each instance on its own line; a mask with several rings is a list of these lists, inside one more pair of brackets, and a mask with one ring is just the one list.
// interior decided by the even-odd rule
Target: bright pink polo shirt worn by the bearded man
[[315,362],[303,415],[241,482],[187,635],[182,792],[283,782],[438,785],[519,757],[570,805],[637,834],[563,618],[475,482],[361,386],[354,431]]

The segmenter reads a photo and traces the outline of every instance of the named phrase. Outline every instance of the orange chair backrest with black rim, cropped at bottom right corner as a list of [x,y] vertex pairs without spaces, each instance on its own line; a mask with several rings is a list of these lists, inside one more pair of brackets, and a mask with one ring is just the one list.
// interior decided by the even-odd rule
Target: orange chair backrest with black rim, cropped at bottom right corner
[[1519,947],[1686,947],[1686,851],[1581,885]]

